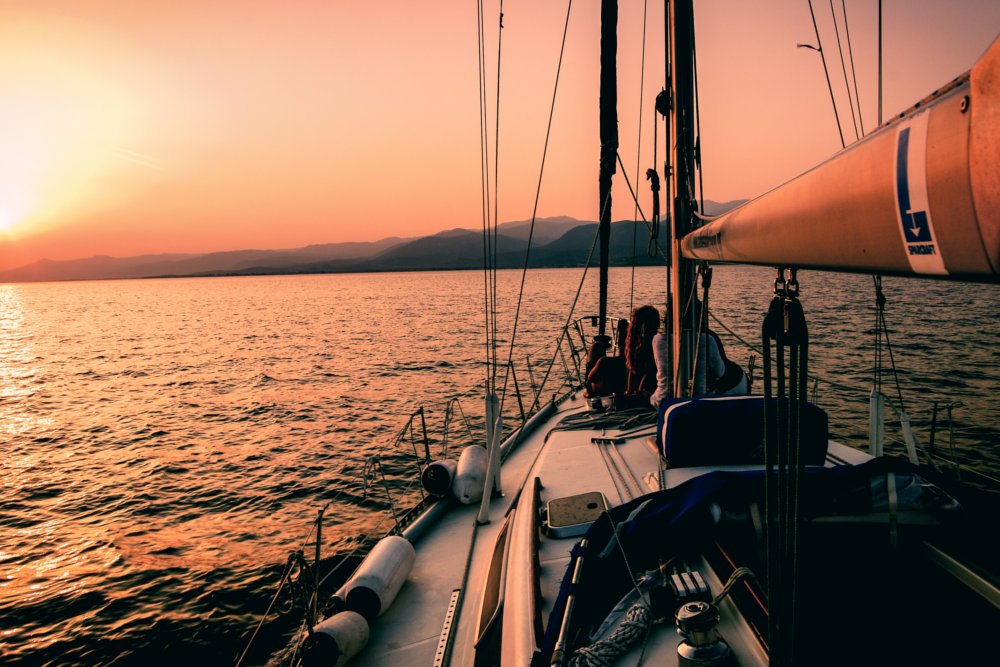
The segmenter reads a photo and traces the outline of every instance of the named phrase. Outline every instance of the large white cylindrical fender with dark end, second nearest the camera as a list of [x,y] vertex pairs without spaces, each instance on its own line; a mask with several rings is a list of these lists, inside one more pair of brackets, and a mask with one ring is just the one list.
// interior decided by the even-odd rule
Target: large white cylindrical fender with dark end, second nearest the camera
[[348,609],[371,622],[396,599],[416,557],[413,545],[406,538],[399,535],[383,537],[336,596]]

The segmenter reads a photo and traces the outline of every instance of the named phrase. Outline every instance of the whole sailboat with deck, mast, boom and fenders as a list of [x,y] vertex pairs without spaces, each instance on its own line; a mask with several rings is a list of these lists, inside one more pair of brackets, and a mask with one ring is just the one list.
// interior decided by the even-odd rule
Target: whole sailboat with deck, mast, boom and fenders
[[[915,448],[906,461],[882,456],[878,437],[867,452],[829,439],[827,415],[807,400],[797,270],[1000,279],[1000,42],[863,141],[708,219],[689,186],[692,0],[668,6],[671,90],[658,110],[672,148],[662,174],[672,397],[662,424],[577,387],[507,434],[490,393],[485,446],[426,461],[429,500],[328,604],[314,592],[291,663],[996,661],[1000,588],[983,550],[995,535],[929,481]],[[605,280],[616,16],[604,0]],[[700,277],[707,307],[711,262],[777,268],[757,395],[697,391],[705,319],[690,300]],[[877,396],[873,406],[877,435]]]

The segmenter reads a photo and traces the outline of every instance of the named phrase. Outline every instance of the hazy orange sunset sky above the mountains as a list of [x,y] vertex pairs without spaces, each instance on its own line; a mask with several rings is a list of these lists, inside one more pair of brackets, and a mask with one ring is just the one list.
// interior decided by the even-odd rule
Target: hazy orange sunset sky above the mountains
[[[813,4],[842,90],[829,2]],[[597,217],[599,5],[573,6],[540,215]],[[632,172],[643,3],[620,5]],[[819,55],[795,48],[815,41],[806,0],[695,5],[706,196],[759,194],[838,149]],[[871,129],[877,2],[846,5]],[[887,116],[968,69],[1000,31],[996,0],[884,5]],[[531,216],[565,10],[504,4],[501,220]],[[497,3],[486,12],[492,97]],[[642,171],[662,13],[651,0]],[[475,26],[473,0],[2,0],[0,269],[478,228]],[[616,179],[614,215],[630,218]]]

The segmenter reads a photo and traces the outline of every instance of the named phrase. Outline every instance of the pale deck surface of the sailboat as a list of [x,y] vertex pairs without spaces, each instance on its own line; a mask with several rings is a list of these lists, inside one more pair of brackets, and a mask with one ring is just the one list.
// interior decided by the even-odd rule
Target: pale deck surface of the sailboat
[[[570,562],[570,550],[579,539],[543,534],[537,509],[552,499],[585,492],[600,492],[608,507],[613,507],[658,490],[661,480],[670,488],[708,471],[661,469],[661,459],[648,442],[652,425],[624,435],[615,430],[553,430],[560,420],[586,410],[582,397],[566,401],[510,454],[503,465],[504,495],[491,502],[489,523],[476,524],[478,505],[452,502],[419,541],[407,583],[372,624],[368,646],[351,664],[528,664],[540,640],[536,600],[541,602],[544,626]],[[605,444],[610,439],[614,442]],[[868,458],[858,450],[830,443],[828,465]],[[531,511],[536,478],[539,503]],[[502,557],[506,553],[509,559]],[[537,561],[532,558],[535,553]],[[494,554],[501,557],[494,560]],[[487,566],[491,562],[495,567]],[[688,565],[701,572],[713,594],[719,592],[724,582],[707,563]],[[731,603],[724,602],[721,612],[720,630],[740,664],[766,664],[751,629]],[[495,622],[502,621],[502,639],[496,641],[501,649],[485,661],[480,655],[477,663],[478,628],[494,613]],[[647,660],[676,664],[677,642],[672,626],[654,629],[644,648]],[[633,650],[638,656],[639,649]]]

